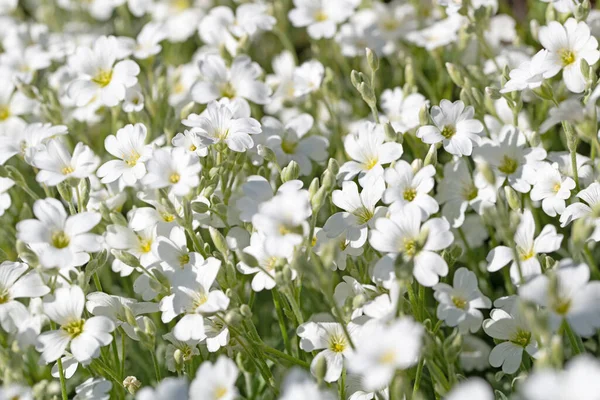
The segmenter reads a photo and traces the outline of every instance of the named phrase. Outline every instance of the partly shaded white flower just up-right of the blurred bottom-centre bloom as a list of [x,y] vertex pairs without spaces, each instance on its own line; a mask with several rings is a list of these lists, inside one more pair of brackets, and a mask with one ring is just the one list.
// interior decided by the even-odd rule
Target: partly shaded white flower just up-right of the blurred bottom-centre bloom
[[438,283],[433,287],[438,301],[437,317],[448,326],[458,326],[460,333],[475,333],[481,327],[483,314],[480,308],[490,308],[492,302],[481,294],[477,276],[466,268],[454,273],[453,286]]

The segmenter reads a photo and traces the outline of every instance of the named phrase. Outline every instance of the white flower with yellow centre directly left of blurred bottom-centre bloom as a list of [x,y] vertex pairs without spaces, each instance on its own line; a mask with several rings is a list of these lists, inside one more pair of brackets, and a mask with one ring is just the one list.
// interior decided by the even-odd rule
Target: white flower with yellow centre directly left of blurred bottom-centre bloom
[[[342,325],[337,322],[328,322],[328,320],[331,320],[331,317],[323,316],[323,321],[319,319],[314,322],[306,322],[298,327],[297,334],[301,338],[300,348],[302,350],[307,352],[322,350],[310,364],[312,374],[315,375],[319,360],[324,358],[327,366],[324,380],[335,382],[342,374],[344,356],[347,356],[352,348]],[[348,326],[350,336],[352,336],[351,328],[352,325]]]

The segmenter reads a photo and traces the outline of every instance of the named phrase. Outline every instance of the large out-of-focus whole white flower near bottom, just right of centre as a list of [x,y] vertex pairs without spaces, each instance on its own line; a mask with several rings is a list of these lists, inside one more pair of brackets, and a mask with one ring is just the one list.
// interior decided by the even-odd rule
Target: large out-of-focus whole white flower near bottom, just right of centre
[[380,390],[396,370],[417,363],[422,336],[423,327],[410,318],[396,319],[391,325],[368,323],[361,329],[356,351],[348,355],[348,369],[362,377],[365,389]]

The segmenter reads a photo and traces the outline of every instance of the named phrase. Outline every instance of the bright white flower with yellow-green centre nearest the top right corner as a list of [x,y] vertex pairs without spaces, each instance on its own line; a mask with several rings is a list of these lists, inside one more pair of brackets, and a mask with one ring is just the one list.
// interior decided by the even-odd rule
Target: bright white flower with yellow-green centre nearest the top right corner
[[562,70],[567,89],[574,93],[583,92],[587,82],[581,72],[581,61],[594,65],[600,58],[598,40],[591,36],[589,26],[574,18],[569,18],[564,25],[550,21],[540,28],[539,39],[548,50],[545,62],[549,68],[544,77],[551,78]]

